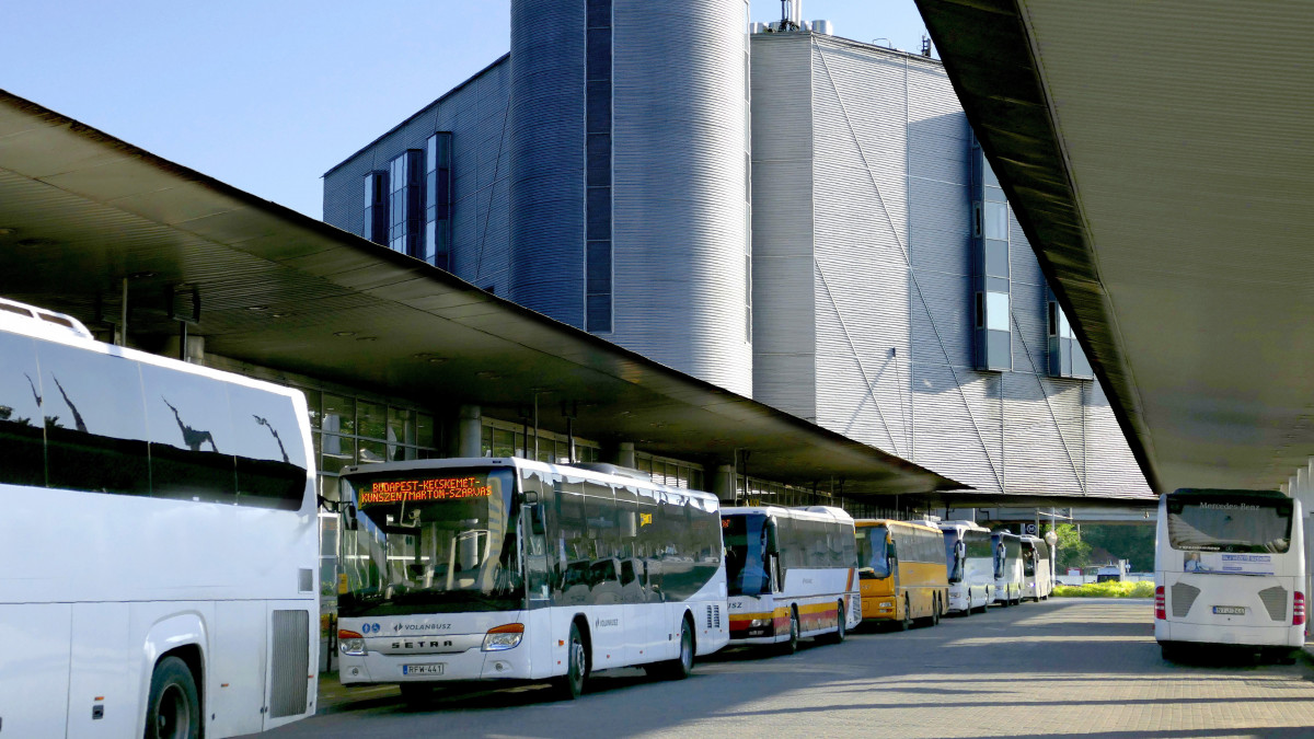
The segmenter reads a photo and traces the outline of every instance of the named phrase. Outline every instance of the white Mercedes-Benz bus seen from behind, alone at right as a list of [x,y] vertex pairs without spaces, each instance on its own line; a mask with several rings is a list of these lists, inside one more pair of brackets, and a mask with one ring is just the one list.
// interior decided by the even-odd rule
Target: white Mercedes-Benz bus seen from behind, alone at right
[[1273,490],[1180,489],[1159,500],[1155,639],[1286,654],[1305,644],[1301,504]]

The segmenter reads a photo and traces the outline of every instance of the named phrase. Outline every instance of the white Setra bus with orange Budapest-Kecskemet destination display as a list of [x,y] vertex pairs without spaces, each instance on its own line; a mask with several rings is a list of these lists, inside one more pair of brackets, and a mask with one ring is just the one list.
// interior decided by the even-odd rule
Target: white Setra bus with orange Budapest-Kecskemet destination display
[[338,675],[407,701],[456,680],[644,665],[687,677],[725,646],[715,496],[611,465],[443,459],[348,467]]

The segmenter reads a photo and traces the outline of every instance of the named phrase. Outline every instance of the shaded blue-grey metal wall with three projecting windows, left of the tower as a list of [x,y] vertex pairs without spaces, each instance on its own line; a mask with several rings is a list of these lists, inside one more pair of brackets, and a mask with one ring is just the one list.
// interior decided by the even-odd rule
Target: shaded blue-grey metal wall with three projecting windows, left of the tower
[[506,295],[509,101],[510,64],[503,58],[325,175],[325,222],[360,234],[365,174],[386,170],[393,156],[407,149],[424,149],[436,131],[451,131],[451,272]]

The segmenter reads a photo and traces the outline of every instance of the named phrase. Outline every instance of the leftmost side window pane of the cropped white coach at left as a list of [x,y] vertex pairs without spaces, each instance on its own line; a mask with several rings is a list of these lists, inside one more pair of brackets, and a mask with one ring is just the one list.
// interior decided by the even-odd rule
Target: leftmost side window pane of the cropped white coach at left
[[0,483],[46,484],[46,419],[37,345],[0,334]]

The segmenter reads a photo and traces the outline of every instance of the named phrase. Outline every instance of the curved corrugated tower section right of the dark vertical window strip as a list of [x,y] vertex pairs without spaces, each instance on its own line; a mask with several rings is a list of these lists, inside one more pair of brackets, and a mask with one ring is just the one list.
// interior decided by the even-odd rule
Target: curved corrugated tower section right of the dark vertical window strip
[[616,0],[614,12],[608,338],[752,394],[746,4]]

